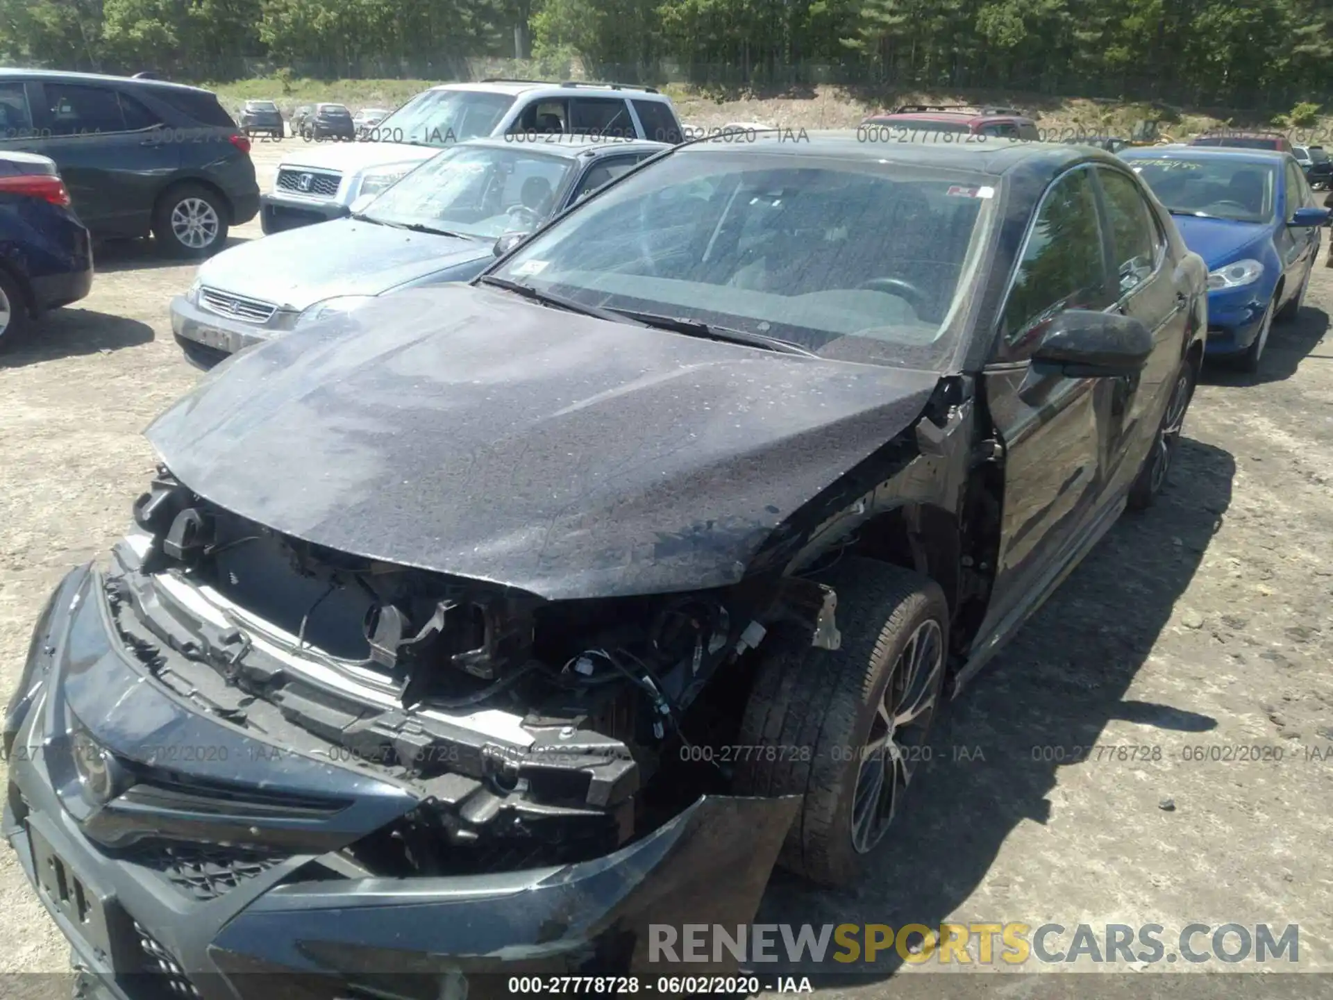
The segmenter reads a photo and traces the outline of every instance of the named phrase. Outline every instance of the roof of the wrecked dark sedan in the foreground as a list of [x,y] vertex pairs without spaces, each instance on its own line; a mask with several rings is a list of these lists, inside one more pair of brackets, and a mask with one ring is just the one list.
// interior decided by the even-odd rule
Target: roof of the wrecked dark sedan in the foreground
[[865,141],[857,129],[817,129],[801,132],[794,140],[790,131],[760,132],[753,143],[737,145],[725,137],[696,139],[677,147],[680,152],[713,155],[728,151],[753,151],[786,155],[792,159],[832,157],[861,163],[902,164],[968,171],[1001,177],[1022,173],[1042,181],[1076,163],[1105,163],[1124,169],[1124,161],[1105,149],[1036,143],[1022,139],[988,137],[985,143],[896,143]]

